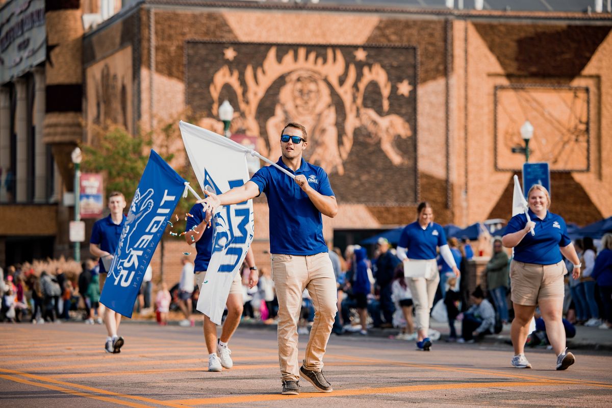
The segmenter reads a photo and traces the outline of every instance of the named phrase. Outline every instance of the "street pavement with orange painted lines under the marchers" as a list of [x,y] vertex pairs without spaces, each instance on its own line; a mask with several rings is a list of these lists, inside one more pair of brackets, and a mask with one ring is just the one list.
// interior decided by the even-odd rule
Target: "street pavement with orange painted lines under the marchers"
[[[324,373],[332,393],[300,381],[280,395],[274,330],[242,325],[230,343],[234,368],[207,372],[196,327],[124,322],[121,354],[103,351],[105,329],[81,322],[0,325],[2,407],[610,407],[612,353],[577,351],[567,371],[555,356],[528,350],[532,369],[510,367],[502,343],[414,342],[381,336],[332,336]],[[300,356],[307,336],[300,336]]]

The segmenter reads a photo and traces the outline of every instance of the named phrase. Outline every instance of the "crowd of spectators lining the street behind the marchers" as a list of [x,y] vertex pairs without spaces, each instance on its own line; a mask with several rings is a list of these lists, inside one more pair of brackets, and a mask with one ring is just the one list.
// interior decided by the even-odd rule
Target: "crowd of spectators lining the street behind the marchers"
[[[473,251],[469,240],[448,240],[457,265],[461,265],[462,276],[466,261]],[[584,265],[583,275],[573,280],[572,274],[565,276],[564,326],[568,336],[575,334],[575,325],[612,328],[612,234],[606,234],[601,250],[595,248],[590,238],[575,241],[575,247]],[[338,289],[338,314],[334,333],[358,333],[367,335],[368,328],[396,328],[398,340],[414,341],[414,305],[403,264],[390,243],[381,238],[376,243],[373,256],[368,258],[366,248],[349,245],[344,253],[339,248],[329,252],[334,265]],[[467,296],[461,278],[455,277],[444,259],[439,257],[440,283],[436,294],[432,316],[449,324],[447,341],[472,343],[483,336],[496,333],[510,319],[509,256],[501,240],[493,240],[493,255],[485,267],[487,290],[477,287]],[[135,304],[136,311],[155,308],[160,324],[167,324],[168,313],[182,312],[181,325],[193,325],[192,313],[198,301],[198,288],[193,284],[193,264],[187,257],[182,259],[181,280],[170,290],[165,283],[157,286],[157,295],[152,303],[152,284],[143,284]],[[7,322],[29,321],[32,324],[80,320],[86,324],[102,324],[103,306],[100,304],[99,265],[95,259],[83,262],[83,271],[67,275],[60,268],[44,270],[37,275],[33,269],[21,265],[0,269],[0,296],[2,307],[0,319]],[[572,270],[571,262],[567,269]],[[269,269],[259,270],[259,283],[248,289],[248,268],[243,276],[243,319],[275,324],[278,302],[274,281]],[[149,271],[151,275],[151,271]],[[151,278],[147,280],[151,282]],[[308,291],[304,291],[299,332],[308,333],[314,310]],[[537,316],[536,316],[537,317]],[[460,333],[456,322],[460,321]],[[541,317],[535,320],[535,329],[528,345],[546,344],[545,325]]]

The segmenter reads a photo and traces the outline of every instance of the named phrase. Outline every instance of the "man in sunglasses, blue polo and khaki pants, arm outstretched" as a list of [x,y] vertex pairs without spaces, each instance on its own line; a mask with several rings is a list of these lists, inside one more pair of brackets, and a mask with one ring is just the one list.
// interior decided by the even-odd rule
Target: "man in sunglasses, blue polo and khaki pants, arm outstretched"
[[[302,154],[308,146],[304,126],[291,122],[280,136],[282,156],[277,164],[295,174],[291,179],[275,166],[259,169],[252,179],[227,193],[207,193],[205,210],[236,204],[266,193],[270,209],[272,278],[278,298],[278,360],[284,395],[300,392],[305,377],[319,391],[332,386],[323,376],[323,355],[337,311],[336,281],[323,239],[321,213],[335,217],[338,204],[326,172],[307,163]],[[308,289],[315,305],[315,322],[306,355],[298,368],[297,317],[302,292]]]

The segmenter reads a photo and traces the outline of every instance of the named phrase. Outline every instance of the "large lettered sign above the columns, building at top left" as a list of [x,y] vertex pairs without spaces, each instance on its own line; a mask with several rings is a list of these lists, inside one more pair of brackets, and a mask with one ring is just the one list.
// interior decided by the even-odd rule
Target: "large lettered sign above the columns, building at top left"
[[23,75],[47,54],[45,1],[13,0],[0,10],[0,84]]

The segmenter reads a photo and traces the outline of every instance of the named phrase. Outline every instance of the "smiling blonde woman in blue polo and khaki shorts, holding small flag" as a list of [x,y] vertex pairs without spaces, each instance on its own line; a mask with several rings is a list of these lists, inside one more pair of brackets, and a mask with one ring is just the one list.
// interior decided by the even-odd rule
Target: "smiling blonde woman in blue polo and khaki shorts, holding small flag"
[[[531,368],[524,355],[529,323],[539,306],[546,323],[548,340],[557,355],[557,369],[566,369],[575,362],[565,347],[563,313],[564,283],[567,273],[562,256],[573,264],[573,278],[580,276],[580,260],[567,237],[567,226],[559,215],[548,211],[550,195],[546,188],[536,184],[529,189],[529,217],[524,213],[509,221],[502,238],[504,247],[514,248],[510,263],[510,288],[515,318],[510,335],[514,347],[512,365]],[[531,230],[534,231],[531,234]]]

